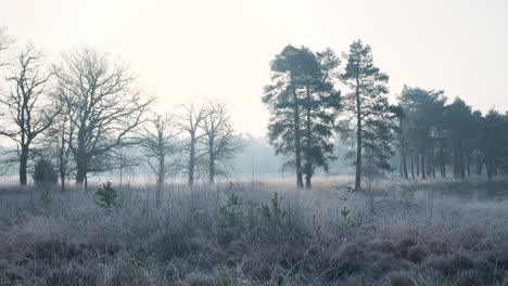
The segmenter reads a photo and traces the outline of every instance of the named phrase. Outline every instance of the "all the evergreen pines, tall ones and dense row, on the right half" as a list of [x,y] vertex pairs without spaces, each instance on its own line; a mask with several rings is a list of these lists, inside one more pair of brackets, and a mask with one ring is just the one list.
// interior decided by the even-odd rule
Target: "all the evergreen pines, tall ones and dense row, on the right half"
[[[389,76],[372,60],[371,48],[354,41],[341,57],[331,49],[315,52],[287,46],[271,61],[271,80],[262,101],[270,112],[268,141],[295,171],[296,186],[312,187],[317,168],[336,159],[339,134],[350,145],[363,178],[382,176],[401,158],[401,177],[455,178],[508,174],[508,114],[472,112],[462,100],[447,103],[443,91],[404,87],[390,104]],[[343,89],[341,92],[340,88]]]

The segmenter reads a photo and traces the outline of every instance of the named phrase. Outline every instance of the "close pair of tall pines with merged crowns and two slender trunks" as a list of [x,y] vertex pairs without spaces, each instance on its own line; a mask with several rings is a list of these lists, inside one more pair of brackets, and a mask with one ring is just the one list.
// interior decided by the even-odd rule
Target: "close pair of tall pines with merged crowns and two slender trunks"
[[340,93],[332,78],[339,58],[331,50],[314,53],[287,46],[271,62],[271,83],[263,102],[271,117],[269,143],[285,156],[284,168],[296,170],[296,184],[312,187],[316,167],[328,170],[333,157],[332,130],[340,107]]

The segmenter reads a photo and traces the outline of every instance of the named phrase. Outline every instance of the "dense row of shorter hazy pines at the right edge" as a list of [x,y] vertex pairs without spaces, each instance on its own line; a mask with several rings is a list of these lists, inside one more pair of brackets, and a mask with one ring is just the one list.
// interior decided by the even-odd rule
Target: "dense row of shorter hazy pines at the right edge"
[[483,115],[459,98],[448,103],[443,91],[420,88],[404,87],[398,100],[402,177],[508,174],[508,114]]

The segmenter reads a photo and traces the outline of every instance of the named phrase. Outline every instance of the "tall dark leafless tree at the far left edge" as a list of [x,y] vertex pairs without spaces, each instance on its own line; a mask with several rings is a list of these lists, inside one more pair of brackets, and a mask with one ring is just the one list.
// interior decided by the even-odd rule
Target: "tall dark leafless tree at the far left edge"
[[27,44],[13,63],[13,69],[7,77],[12,83],[11,91],[0,96],[0,104],[8,110],[2,115],[4,125],[0,134],[16,143],[20,184],[26,185],[30,146],[52,125],[59,110],[49,100],[48,84],[53,73],[43,66],[43,55],[39,51]]

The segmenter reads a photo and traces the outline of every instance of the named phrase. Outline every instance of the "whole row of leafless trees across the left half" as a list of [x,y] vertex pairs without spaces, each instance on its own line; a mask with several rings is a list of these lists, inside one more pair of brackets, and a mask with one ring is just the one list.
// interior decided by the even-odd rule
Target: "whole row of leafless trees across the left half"
[[[0,30],[0,135],[16,148],[3,169],[17,166],[26,185],[36,159],[56,166],[62,190],[67,178],[87,188],[96,173],[140,164],[156,177],[157,194],[169,176],[225,174],[227,161],[241,151],[228,105],[196,98],[173,113],[154,112],[156,98],[139,88],[131,66],[118,56],[79,47],[49,63],[34,44],[18,46]],[[8,55],[10,52],[14,55]],[[42,166],[51,166],[49,164]]]

